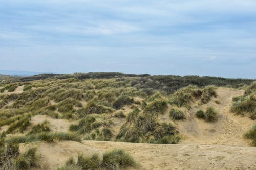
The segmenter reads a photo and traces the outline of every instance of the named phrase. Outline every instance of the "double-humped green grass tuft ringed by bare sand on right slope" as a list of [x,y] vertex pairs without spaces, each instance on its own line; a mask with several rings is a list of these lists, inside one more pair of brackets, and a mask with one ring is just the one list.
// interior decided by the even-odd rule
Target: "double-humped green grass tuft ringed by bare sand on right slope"
[[197,118],[202,118],[206,122],[216,122],[218,120],[218,113],[212,107],[207,107],[206,111],[198,110],[196,112]]

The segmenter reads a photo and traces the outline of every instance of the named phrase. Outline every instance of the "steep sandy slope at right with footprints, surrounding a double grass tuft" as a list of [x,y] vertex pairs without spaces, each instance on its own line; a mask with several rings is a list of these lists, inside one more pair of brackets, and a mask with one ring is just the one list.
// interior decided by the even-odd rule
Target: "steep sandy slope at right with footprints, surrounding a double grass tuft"
[[[184,135],[182,143],[249,146],[250,140],[244,139],[243,134],[252,127],[255,120],[230,112],[232,98],[243,93],[243,90],[218,88],[216,99],[202,106],[195,104],[187,112],[186,120],[175,122],[179,132]],[[220,104],[216,104],[215,100],[219,100]],[[205,110],[209,106],[219,113],[218,121],[215,123],[208,123],[195,117],[199,109]]]

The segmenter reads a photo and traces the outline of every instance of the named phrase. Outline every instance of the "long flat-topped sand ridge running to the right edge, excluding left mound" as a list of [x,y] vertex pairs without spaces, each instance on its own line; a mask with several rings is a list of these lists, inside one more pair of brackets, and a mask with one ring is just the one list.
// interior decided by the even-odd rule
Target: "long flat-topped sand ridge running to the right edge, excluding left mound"
[[83,141],[109,151],[121,148],[141,164],[141,169],[255,169],[255,147],[198,144],[144,144]]

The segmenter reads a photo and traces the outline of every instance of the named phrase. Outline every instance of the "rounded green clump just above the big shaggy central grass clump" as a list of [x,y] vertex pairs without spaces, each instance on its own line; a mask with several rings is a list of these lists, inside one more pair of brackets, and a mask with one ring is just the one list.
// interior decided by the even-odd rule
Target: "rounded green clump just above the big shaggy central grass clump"
[[149,103],[144,109],[144,113],[160,113],[164,114],[167,110],[167,103],[165,101],[154,101]]

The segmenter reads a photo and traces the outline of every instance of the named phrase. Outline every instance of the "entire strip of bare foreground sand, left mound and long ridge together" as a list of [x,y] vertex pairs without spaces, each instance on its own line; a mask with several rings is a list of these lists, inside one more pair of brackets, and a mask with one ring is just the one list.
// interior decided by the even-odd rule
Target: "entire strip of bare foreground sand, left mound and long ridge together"
[[102,155],[102,152],[115,148],[129,152],[140,164],[139,169],[256,169],[255,147],[60,141],[23,144],[21,151],[31,145],[36,146],[42,156],[43,167],[40,169],[56,169],[70,156],[76,157],[81,152]]

